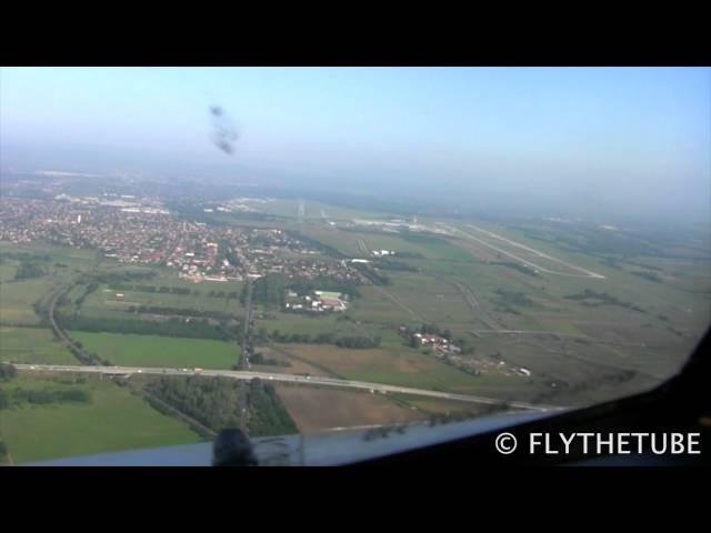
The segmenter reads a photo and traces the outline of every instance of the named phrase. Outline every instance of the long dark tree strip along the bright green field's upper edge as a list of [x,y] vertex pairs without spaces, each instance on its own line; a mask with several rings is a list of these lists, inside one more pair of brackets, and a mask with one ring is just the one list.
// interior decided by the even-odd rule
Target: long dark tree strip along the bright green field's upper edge
[[191,320],[169,319],[164,322],[148,320],[117,320],[91,316],[56,315],[57,323],[63,330],[134,333],[138,335],[182,336],[188,339],[216,339],[230,341],[239,339],[239,329],[229,328],[226,323],[210,324],[208,319]]

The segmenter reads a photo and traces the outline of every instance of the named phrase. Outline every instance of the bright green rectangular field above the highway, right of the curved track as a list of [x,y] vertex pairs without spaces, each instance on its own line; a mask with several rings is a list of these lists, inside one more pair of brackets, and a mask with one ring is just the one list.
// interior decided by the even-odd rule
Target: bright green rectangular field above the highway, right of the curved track
[[118,366],[230,369],[239,361],[236,343],[157,335],[70,332],[84,349]]

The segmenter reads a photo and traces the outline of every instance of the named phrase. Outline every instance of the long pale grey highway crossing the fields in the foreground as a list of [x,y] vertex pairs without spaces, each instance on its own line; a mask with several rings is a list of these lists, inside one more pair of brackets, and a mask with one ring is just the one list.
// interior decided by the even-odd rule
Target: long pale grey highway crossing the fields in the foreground
[[282,383],[300,383],[304,385],[339,386],[344,389],[360,389],[380,393],[411,394],[415,396],[439,398],[460,402],[481,403],[488,405],[507,404],[511,409],[531,411],[558,411],[567,408],[554,405],[531,404],[527,402],[504,402],[494,398],[472,396],[469,394],[454,394],[450,392],[429,391],[424,389],[410,389],[407,386],[385,385],[382,383],[368,383],[363,381],[340,380],[337,378],[304,376],[294,374],[278,374],[269,372],[251,372],[238,370],[196,370],[196,369],[151,369],[144,366],[81,366],[66,364],[14,364],[21,372],[83,372],[107,375],[201,375],[207,378],[231,378],[234,380],[278,381]]

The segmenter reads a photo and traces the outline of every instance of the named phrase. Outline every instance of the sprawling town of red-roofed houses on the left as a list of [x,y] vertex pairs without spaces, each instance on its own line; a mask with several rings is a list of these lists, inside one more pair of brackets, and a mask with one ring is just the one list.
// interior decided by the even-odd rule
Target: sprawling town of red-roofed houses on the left
[[96,249],[122,263],[174,269],[180,278],[193,282],[256,280],[270,273],[354,284],[365,281],[346,261],[316,258],[317,250],[286,231],[182,220],[153,200],[134,197],[3,197],[0,240]]

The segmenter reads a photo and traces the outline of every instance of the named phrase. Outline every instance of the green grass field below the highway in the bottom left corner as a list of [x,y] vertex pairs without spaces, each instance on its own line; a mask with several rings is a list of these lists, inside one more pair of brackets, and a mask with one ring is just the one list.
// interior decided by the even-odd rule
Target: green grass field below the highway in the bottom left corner
[[0,433],[17,464],[201,442],[188,426],[108,379],[90,376],[83,384],[63,385],[50,378],[20,375],[0,382],[0,389],[18,386],[82,389],[91,394],[91,403],[0,410]]

